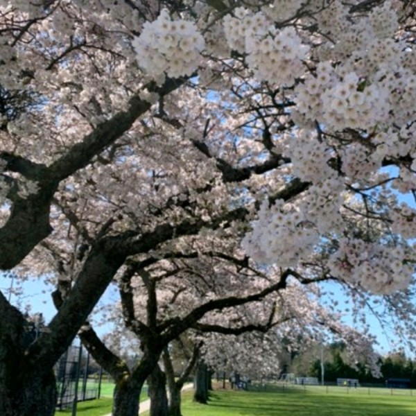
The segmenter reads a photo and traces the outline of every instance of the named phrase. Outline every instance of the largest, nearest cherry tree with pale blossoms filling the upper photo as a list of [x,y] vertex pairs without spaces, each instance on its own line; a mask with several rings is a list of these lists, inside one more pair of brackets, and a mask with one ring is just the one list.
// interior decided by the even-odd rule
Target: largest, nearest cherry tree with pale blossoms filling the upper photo
[[35,100],[0,112],[0,268],[59,284],[29,345],[0,294],[0,413],[53,414],[53,363],[105,288],[130,262],[172,267],[191,236],[206,253],[232,234],[251,268],[384,302],[413,341],[415,12],[0,1],[0,85]]

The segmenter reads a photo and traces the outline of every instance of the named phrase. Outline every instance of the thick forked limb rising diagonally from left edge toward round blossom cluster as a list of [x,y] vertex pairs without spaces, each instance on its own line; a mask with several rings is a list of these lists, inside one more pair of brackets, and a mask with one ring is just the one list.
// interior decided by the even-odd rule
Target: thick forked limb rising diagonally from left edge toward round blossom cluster
[[[147,89],[164,96],[183,85],[186,80],[168,79],[162,87],[150,84]],[[37,193],[27,198],[17,196],[12,201],[10,217],[0,228],[1,270],[8,270],[19,264],[37,243],[51,233],[49,211],[60,181],[90,164],[96,155],[119,139],[149,108],[150,103],[141,100],[138,95],[133,96],[128,103],[128,110],[119,112],[98,125],[47,168],[19,156],[12,157],[7,153],[1,155],[10,169],[36,180],[39,186]]]

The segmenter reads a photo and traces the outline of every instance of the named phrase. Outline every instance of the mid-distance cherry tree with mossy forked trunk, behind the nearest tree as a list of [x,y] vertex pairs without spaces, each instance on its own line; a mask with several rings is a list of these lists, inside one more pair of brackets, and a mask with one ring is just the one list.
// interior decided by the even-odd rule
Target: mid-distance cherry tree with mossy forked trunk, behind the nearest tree
[[[207,237],[203,240],[206,243]],[[195,239],[191,243],[195,245]],[[225,250],[227,245],[228,250],[232,249],[230,241],[223,239],[221,243]],[[180,241],[180,246],[184,248],[184,241]],[[91,327],[80,332],[89,352],[116,380],[114,415],[138,410],[144,381],[150,376],[152,383],[159,385],[160,370],[153,372],[153,367],[169,343],[187,329],[241,333],[259,328],[266,330],[280,320],[286,320],[275,314],[273,304],[259,301],[284,288],[289,272],[266,277],[244,266],[247,259],[233,258],[224,252],[214,258],[195,252],[183,254],[184,259],[173,254],[171,252],[173,257],[170,259],[130,261],[119,277],[122,311],[119,319],[123,322],[119,327],[123,332],[125,325],[140,340],[141,356],[137,365],[131,369],[123,365],[121,358],[101,343]],[[252,279],[250,288],[244,285],[247,279]],[[235,319],[232,324],[235,316],[231,315],[232,318],[227,318],[231,319],[229,324],[216,324],[209,317],[211,311],[227,311],[248,302],[263,305],[256,319],[247,322]],[[110,338],[114,340],[114,337],[112,334]],[[166,387],[166,381],[163,387]],[[179,386],[176,387],[180,392]]]

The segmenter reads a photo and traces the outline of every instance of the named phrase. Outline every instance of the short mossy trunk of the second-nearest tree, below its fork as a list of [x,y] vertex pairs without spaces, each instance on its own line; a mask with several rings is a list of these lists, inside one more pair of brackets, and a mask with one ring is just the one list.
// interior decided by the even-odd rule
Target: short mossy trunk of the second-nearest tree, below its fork
[[116,383],[113,395],[112,416],[130,416],[139,413],[139,396],[143,383],[134,381],[126,375]]

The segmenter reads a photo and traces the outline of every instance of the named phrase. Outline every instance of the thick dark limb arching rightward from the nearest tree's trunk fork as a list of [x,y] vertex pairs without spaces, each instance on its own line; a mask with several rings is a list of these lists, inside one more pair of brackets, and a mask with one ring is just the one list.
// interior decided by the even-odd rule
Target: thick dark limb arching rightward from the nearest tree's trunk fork
[[245,209],[235,209],[211,221],[200,219],[184,220],[177,225],[166,223],[158,225],[152,232],[139,234],[128,231],[97,241],[89,250],[71,292],[51,320],[49,331],[37,338],[27,360],[39,371],[58,360],[127,257],[146,253],[178,236],[197,234],[202,227],[215,229],[224,222],[241,220],[246,214]]

